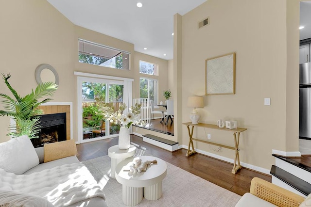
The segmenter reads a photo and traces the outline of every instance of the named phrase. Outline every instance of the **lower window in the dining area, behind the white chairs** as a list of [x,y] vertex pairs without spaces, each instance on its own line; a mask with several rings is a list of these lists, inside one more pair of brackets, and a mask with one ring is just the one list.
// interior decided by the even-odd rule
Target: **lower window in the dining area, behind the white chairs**
[[158,101],[158,86],[157,80],[140,78],[140,98],[149,98],[154,100],[154,104],[157,105]]

